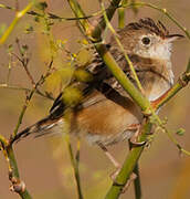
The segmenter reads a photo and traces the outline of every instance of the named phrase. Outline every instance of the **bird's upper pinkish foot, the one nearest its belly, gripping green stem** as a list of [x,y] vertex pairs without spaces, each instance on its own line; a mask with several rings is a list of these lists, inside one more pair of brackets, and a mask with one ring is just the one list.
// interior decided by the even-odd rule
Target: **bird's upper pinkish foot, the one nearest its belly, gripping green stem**
[[130,126],[127,127],[127,130],[136,130],[135,134],[130,137],[129,142],[134,145],[134,146],[141,146],[145,145],[146,142],[138,142],[137,138],[140,135],[140,124],[133,124]]

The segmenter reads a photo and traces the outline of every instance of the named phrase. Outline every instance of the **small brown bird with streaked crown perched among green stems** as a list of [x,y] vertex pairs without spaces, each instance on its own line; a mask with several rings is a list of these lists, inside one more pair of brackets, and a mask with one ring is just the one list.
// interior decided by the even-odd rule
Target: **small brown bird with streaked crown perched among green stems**
[[[158,100],[173,84],[171,44],[182,35],[169,34],[160,21],[155,23],[150,18],[129,23],[117,33],[133,62],[146,97],[149,101]],[[128,63],[114,39],[107,44],[107,51],[135,84]],[[80,87],[84,97],[73,108],[71,134],[85,136],[89,143],[99,145],[114,163],[106,146],[131,138],[144,116],[97,53],[86,71],[93,75],[93,81],[73,84]],[[62,133],[65,124],[64,112],[67,108],[62,94],[55,100],[48,117],[20,132],[13,142],[31,134],[38,137]],[[117,166],[116,161],[114,164]]]

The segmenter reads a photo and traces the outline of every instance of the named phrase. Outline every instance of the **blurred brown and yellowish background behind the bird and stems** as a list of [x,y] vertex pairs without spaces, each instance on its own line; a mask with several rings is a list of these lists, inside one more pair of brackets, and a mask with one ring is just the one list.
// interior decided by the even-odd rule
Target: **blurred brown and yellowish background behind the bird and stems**
[[[28,1],[18,1],[22,9]],[[98,1],[78,0],[87,14],[99,10]],[[160,8],[169,10],[178,21],[190,30],[190,1],[189,0],[151,0],[148,1]],[[15,1],[0,1],[7,6],[15,7]],[[46,0],[48,11],[61,17],[73,17],[66,0]],[[138,13],[126,10],[126,23],[131,20],[138,20],[141,17],[150,17],[161,20],[166,27],[173,33],[182,33],[173,23],[171,23],[162,13],[149,9],[140,8]],[[14,18],[14,11],[0,9],[0,25],[8,27]],[[113,24],[117,28],[117,14],[113,19]],[[34,32],[25,34],[25,29],[33,25]],[[45,71],[45,63],[50,62],[50,43],[46,34],[42,32],[43,23],[34,22],[32,17],[25,15],[17,25],[4,46],[0,48],[0,83],[7,81],[9,63],[11,63],[10,85],[31,88],[29,78],[23,67],[10,60],[7,53],[9,44],[15,43],[15,38],[21,43],[29,45],[30,64],[29,69],[34,77],[39,80]],[[52,35],[55,40],[66,42],[66,48],[76,53],[81,48],[78,40],[83,36],[76,28],[74,21],[55,22],[52,25]],[[15,50],[17,52],[17,50]],[[190,41],[183,39],[173,45],[172,63],[177,77],[184,71],[190,56]],[[54,64],[61,67],[65,62],[65,54],[60,53]],[[52,90],[45,85],[44,90]],[[56,95],[57,91],[54,92]],[[0,134],[9,137],[18,122],[19,114],[23,106],[25,93],[22,91],[0,88]],[[45,116],[52,102],[35,95],[24,115],[21,129],[33,124],[39,118]],[[190,150],[190,92],[182,90],[175,96],[160,112],[160,116],[168,118],[168,128],[173,132],[180,144]],[[175,135],[178,128],[184,128],[183,136]],[[75,138],[72,138],[73,146],[76,145]],[[120,143],[109,148],[115,157],[123,163],[127,153],[127,143]],[[61,136],[43,137],[39,139],[28,138],[14,146],[15,157],[21,175],[27,187],[35,199],[74,199],[77,198],[73,169],[71,167],[68,151]],[[140,179],[142,188],[142,198],[145,199],[189,199],[190,198],[190,157],[179,155],[177,147],[168,139],[163,133],[155,135],[155,139],[149,148],[146,148],[140,160]],[[112,180],[109,174],[114,171],[112,164],[107,160],[101,149],[96,146],[89,146],[85,140],[81,145],[81,178],[84,197],[87,199],[104,198]],[[9,191],[8,167],[2,154],[0,154],[0,198],[15,199],[15,193]],[[134,188],[124,193],[122,199],[134,198]]]

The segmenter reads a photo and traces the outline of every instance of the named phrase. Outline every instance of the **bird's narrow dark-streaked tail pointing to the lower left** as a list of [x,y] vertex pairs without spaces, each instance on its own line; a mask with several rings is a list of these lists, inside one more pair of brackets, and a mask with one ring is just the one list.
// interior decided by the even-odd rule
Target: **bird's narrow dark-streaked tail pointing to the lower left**
[[27,127],[22,132],[18,133],[11,143],[19,142],[24,137],[34,135],[34,137],[41,137],[46,134],[56,132],[54,128],[60,126],[62,119],[52,119],[51,116],[46,116],[38,123]]

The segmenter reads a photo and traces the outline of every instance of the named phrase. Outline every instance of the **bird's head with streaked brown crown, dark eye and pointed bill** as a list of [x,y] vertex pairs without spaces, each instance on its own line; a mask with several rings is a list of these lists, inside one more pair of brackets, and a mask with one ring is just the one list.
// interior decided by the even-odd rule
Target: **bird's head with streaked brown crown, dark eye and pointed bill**
[[170,60],[172,41],[182,36],[169,34],[160,21],[156,23],[150,18],[129,23],[118,31],[118,35],[128,54],[160,60]]

